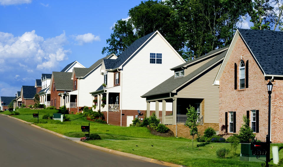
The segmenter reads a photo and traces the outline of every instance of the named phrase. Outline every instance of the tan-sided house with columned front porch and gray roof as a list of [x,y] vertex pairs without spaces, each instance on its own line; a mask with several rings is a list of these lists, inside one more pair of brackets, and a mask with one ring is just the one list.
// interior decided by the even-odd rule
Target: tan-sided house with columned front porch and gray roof
[[[190,129],[185,126],[187,108],[193,106],[198,113],[198,131],[212,127],[219,129],[219,87],[213,85],[228,47],[210,51],[204,56],[176,66],[171,70],[174,75],[148,91],[141,97],[146,98],[147,111],[155,103],[155,114],[170,128],[175,136],[191,138]],[[160,105],[159,103],[162,102]],[[166,111],[166,103],[172,103],[173,112]],[[149,116],[149,112],[147,113]],[[177,133],[176,133],[177,131]]]

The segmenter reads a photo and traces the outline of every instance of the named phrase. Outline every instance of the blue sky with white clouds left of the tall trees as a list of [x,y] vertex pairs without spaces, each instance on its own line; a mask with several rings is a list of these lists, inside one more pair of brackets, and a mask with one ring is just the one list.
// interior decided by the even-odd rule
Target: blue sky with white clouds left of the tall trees
[[141,0],[0,0],[0,96],[14,96],[42,73],[102,58],[111,26]]

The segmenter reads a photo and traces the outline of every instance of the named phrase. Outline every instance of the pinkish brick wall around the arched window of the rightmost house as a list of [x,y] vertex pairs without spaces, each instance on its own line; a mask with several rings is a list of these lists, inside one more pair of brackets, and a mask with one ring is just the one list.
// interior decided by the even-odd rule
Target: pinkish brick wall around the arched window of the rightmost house
[[[242,60],[245,62],[249,60],[249,87],[239,89],[239,64]],[[234,64],[237,64],[237,89],[234,89]],[[231,56],[220,78],[219,86],[219,129],[225,125],[225,112],[236,112],[236,133],[239,132],[243,124],[243,116],[250,111],[249,118],[251,119],[251,110],[259,110],[259,133],[256,138],[261,141],[266,141],[266,134],[268,133],[268,93],[267,86],[269,80],[266,80],[261,69],[252,57],[251,53],[243,43],[241,38],[238,38],[236,45],[231,52]],[[283,81],[275,79],[272,90],[272,142],[283,142],[283,122],[280,121],[283,114]],[[229,117],[229,114],[228,114]],[[229,125],[229,119],[228,119]],[[251,123],[250,123],[251,126]],[[229,127],[228,127],[229,131]],[[233,133],[227,133],[226,137]]]

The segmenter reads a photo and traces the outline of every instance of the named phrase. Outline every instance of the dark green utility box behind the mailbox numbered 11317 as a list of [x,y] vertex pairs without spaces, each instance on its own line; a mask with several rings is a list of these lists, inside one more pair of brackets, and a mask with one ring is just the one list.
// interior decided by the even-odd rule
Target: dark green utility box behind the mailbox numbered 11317
[[263,162],[262,160],[266,161],[266,156],[261,155],[259,159],[256,159],[251,152],[251,143],[241,143],[240,161]]

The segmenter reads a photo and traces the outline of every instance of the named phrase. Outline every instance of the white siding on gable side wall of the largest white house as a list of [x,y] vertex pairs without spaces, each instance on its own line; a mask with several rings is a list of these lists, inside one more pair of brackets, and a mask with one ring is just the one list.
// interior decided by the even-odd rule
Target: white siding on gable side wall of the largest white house
[[[150,53],[162,53],[162,64],[150,64]],[[136,54],[127,61],[122,70],[122,109],[146,110],[146,99],[141,98],[155,86],[174,75],[170,69],[184,63],[174,50],[156,34]],[[155,103],[151,103],[155,110]],[[159,104],[159,110],[162,105]],[[172,104],[167,103],[166,110],[172,111]]]

